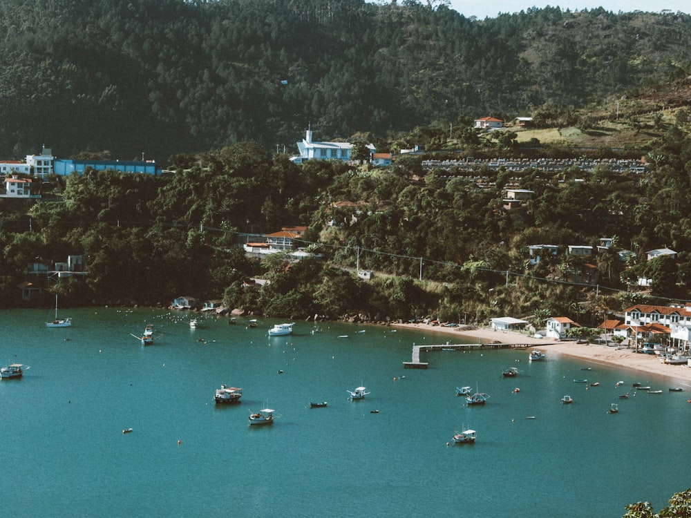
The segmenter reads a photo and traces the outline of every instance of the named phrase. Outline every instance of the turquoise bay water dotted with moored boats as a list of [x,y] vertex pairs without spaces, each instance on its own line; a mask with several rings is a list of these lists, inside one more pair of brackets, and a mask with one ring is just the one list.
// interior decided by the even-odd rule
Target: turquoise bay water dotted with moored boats
[[[529,363],[524,350],[429,352],[428,370],[404,370],[414,343],[449,338],[388,327],[312,334],[297,322],[269,338],[277,320],[190,329],[187,314],[149,309],[64,316],[73,327],[0,313],[0,363],[30,366],[0,382],[0,494],[21,516],[621,517],[626,503],[659,509],[689,486],[690,394],[664,378]],[[131,334],[146,323],[162,336],[143,347]],[[502,378],[512,366],[518,378]],[[633,396],[635,381],[663,394]],[[243,387],[241,403],[214,405],[223,383]],[[371,394],[349,401],[359,385]],[[461,385],[488,403],[467,407]],[[266,405],[276,422],[250,428]],[[475,444],[451,440],[464,426]]]

